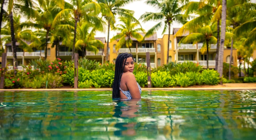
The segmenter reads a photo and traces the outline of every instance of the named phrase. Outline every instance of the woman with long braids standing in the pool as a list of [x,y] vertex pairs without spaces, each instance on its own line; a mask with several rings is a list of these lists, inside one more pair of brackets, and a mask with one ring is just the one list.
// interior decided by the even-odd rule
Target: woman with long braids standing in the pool
[[132,73],[133,69],[133,56],[129,53],[120,53],[115,64],[112,98],[141,99],[141,87]]

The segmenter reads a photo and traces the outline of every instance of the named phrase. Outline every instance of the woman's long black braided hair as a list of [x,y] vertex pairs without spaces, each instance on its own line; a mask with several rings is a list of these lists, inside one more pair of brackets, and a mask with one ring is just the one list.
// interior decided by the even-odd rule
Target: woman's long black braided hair
[[120,91],[119,91],[120,81],[124,71],[125,62],[129,57],[132,57],[133,59],[133,55],[130,53],[120,53],[117,56],[116,64],[115,64],[115,78],[112,85],[112,98],[120,98]]

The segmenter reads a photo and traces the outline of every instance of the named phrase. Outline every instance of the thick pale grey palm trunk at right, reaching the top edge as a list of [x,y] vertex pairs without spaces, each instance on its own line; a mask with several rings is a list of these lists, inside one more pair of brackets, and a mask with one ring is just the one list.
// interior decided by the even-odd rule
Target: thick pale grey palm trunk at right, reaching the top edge
[[[223,74],[223,53],[224,53],[224,42],[226,35],[226,14],[227,14],[227,0],[222,1],[222,16],[221,16],[221,35],[220,35],[220,49],[219,49],[219,59],[218,59],[218,72],[220,73],[220,78]],[[222,84],[222,80],[220,81]]]

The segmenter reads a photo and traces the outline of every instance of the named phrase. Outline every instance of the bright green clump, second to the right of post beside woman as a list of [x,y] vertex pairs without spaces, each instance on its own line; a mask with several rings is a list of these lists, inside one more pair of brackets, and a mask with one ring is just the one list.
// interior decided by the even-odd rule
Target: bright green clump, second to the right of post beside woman
[[187,87],[193,84],[193,82],[190,81],[190,77],[181,72],[175,74],[173,78],[177,81],[177,85],[180,85],[181,87]]

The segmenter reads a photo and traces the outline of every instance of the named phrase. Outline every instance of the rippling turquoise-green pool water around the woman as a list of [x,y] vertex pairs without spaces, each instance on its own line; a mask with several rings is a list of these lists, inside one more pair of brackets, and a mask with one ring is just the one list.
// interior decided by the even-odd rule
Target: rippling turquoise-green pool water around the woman
[[256,91],[0,92],[0,139],[252,140]]

